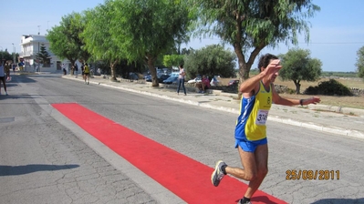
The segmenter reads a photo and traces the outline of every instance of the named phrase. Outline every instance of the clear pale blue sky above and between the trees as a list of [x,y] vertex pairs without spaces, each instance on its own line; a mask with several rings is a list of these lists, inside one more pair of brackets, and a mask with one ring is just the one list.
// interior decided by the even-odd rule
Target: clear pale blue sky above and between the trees
[[[11,53],[20,51],[20,40],[23,35],[46,35],[47,29],[58,26],[62,16],[72,12],[82,12],[104,0],[0,0],[0,50]],[[322,62],[323,71],[355,72],[357,67],[357,52],[364,46],[364,20],[362,9],[364,0],[328,1],[312,0],[321,10],[307,21],[310,22],[310,41],[298,38],[298,48],[308,49],[311,58],[318,58]],[[192,39],[182,47],[200,49],[204,46],[220,44],[218,37]],[[14,46],[13,46],[14,44]],[[293,45],[279,45],[275,49],[265,47],[260,54],[286,54]],[[233,46],[225,45],[233,50]],[[252,68],[257,65],[257,58]]]

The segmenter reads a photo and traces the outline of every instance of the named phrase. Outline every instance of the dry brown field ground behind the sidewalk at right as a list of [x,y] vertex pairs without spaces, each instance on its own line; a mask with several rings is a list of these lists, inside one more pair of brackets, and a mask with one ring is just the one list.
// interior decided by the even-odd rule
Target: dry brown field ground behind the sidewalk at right
[[[226,86],[230,80],[237,78],[219,78],[221,85]],[[328,80],[328,78],[323,78],[318,82],[301,82],[301,92],[303,92],[307,87],[312,86],[315,87],[320,81]],[[364,89],[364,82],[359,78],[336,78],[338,82],[347,86],[347,87],[358,87]],[[286,86],[292,89],[296,89],[293,81],[281,81],[279,78],[276,78],[276,85]],[[280,94],[282,97],[291,97],[291,98],[305,98],[312,97],[310,95],[296,95],[296,94]],[[317,96],[321,98],[321,104],[335,107],[354,107],[364,109],[364,96],[361,97],[331,97],[331,96]]]

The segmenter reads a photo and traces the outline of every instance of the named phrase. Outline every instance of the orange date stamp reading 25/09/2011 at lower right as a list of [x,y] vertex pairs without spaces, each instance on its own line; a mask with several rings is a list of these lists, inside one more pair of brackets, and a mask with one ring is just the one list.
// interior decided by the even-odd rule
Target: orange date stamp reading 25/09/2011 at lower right
[[339,170],[286,170],[286,180],[333,180],[340,179]]

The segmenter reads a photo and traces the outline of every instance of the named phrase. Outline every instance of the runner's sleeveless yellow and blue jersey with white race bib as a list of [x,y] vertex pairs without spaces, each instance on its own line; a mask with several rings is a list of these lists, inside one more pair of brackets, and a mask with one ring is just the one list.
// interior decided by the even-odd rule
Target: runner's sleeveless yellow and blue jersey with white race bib
[[235,138],[250,141],[266,138],[265,122],[272,106],[272,85],[265,89],[262,81],[255,96],[242,98],[236,120]]

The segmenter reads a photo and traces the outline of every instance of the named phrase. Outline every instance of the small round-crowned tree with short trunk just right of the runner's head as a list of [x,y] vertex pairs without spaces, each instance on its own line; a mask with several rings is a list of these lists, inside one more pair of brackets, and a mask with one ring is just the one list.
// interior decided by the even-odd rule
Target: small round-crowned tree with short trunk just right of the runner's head
[[300,93],[301,81],[317,81],[321,76],[322,63],[317,58],[311,58],[309,50],[290,49],[279,57],[283,66],[279,77],[284,81],[292,80],[296,86],[296,94]]

